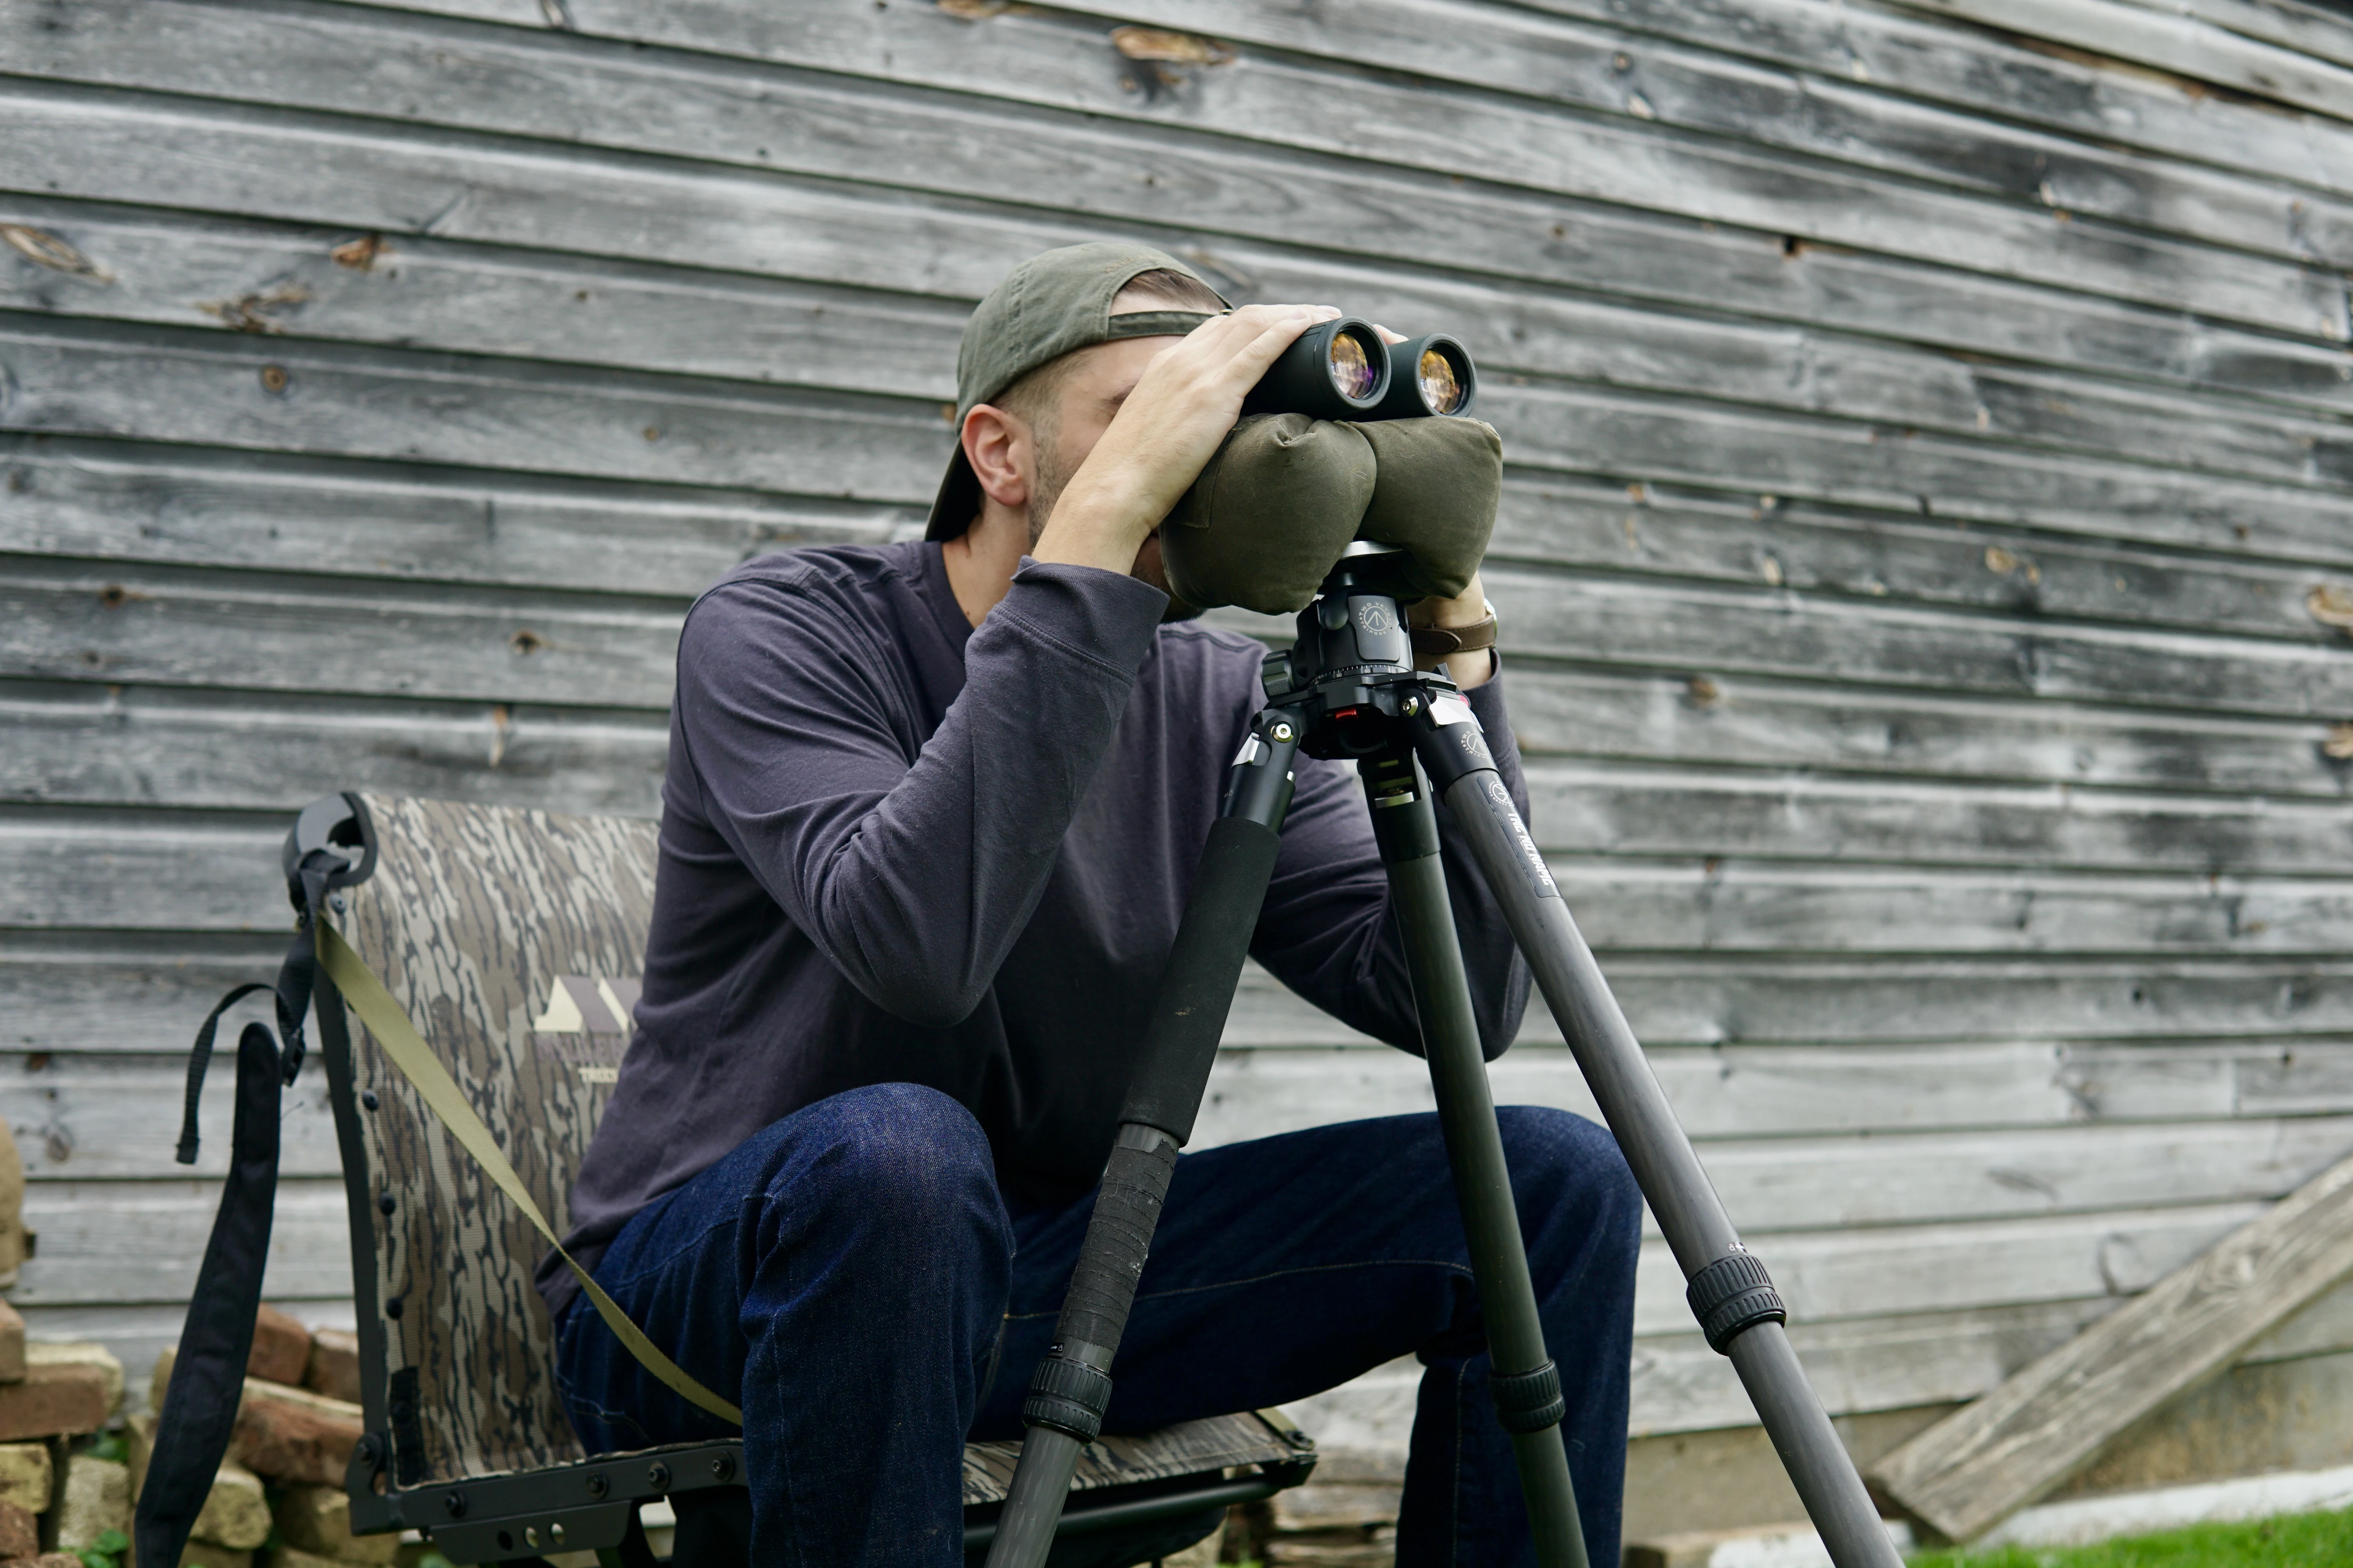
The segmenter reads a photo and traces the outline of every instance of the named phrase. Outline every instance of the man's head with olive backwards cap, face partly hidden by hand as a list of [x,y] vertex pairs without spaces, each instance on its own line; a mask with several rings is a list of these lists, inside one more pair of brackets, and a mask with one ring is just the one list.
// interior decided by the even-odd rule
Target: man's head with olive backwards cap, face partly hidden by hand
[[[1141,244],[1071,244],[1014,268],[965,327],[960,440],[925,536],[1016,512],[1035,543],[1144,364],[1219,310],[1217,289]],[[1158,581],[1158,562],[1141,564]]]

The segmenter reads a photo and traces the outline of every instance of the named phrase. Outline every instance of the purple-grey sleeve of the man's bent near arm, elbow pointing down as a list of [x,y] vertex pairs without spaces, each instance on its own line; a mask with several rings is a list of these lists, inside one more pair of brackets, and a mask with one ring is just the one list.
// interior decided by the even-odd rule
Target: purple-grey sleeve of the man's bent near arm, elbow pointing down
[[722,583],[678,649],[701,809],[866,999],[951,1027],[1028,924],[1165,602],[1113,571],[1024,562],[925,738],[868,618],[824,585]]

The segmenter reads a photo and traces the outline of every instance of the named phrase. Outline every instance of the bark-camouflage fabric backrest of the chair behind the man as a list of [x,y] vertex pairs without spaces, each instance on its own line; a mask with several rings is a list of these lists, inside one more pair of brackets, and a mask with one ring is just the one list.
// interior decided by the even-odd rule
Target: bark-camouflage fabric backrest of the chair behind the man
[[[341,929],[562,1234],[612,1093],[654,907],[654,825],[360,797],[374,875]],[[579,1460],[532,1288],[546,1244],[351,1027],[346,1138],[369,1425],[400,1488]],[[355,1159],[358,1154],[358,1159]],[[367,1227],[367,1237],[358,1234]],[[374,1401],[369,1401],[374,1403]],[[379,1425],[381,1422],[381,1425]]]

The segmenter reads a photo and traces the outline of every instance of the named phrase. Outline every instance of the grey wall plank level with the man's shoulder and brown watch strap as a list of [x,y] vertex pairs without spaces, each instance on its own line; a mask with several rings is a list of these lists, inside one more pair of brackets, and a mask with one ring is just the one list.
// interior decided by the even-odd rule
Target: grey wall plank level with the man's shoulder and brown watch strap
[[[2141,628],[1497,567],[1513,646],[1584,665],[1767,675],[2341,722],[2353,644]],[[445,590],[16,557],[0,675],[659,708],[685,602]],[[435,628],[431,642],[421,628]],[[202,637],[191,630],[202,628]],[[1687,686],[1687,693],[1697,689]],[[2327,743],[2322,731],[2320,741]],[[2341,762],[2341,759],[2334,759]]]

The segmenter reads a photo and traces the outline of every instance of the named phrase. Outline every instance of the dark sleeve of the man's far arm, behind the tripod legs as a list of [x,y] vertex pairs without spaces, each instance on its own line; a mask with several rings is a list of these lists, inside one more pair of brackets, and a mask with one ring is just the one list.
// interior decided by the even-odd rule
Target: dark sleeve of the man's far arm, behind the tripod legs
[[[1504,712],[1501,672],[1466,698],[1487,731],[1497,773],[1525,818],[1527,785]],[[1278,980],[1348,1027],[1419,1056],[1421,1025],[1414,1018],[1405,943],[1391,917],[1388,872],[1372,842],[1365,790],[1355,769],[1332,762],[1301,759],[1297,773],[1299,790],[1282,820],[1282,851],[1275,856],[1275,877],[1249,952]],[[1494,1060],[1520,1032],[1527,964],[1445,802],[1438,804],[1438,844],[1471,980],[1471,1011],[1480,1046]]]

